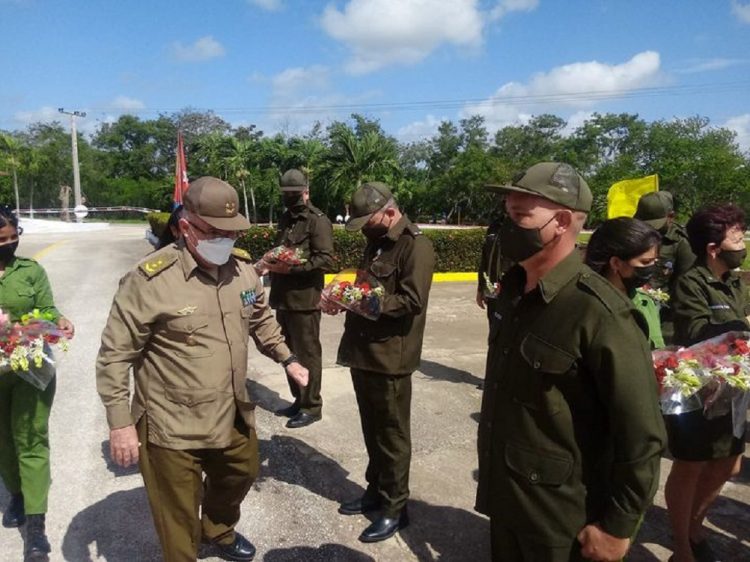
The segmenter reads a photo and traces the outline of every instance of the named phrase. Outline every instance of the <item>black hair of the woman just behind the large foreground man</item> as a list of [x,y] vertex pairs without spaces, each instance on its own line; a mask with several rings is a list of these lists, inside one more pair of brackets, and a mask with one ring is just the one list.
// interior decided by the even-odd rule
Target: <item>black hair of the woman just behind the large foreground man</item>
[[660,243],[661,234],[643,221],[630,217],[610,219],[591,235],[586,247],[586,265],[605,275],[612,257],[631,260]]

